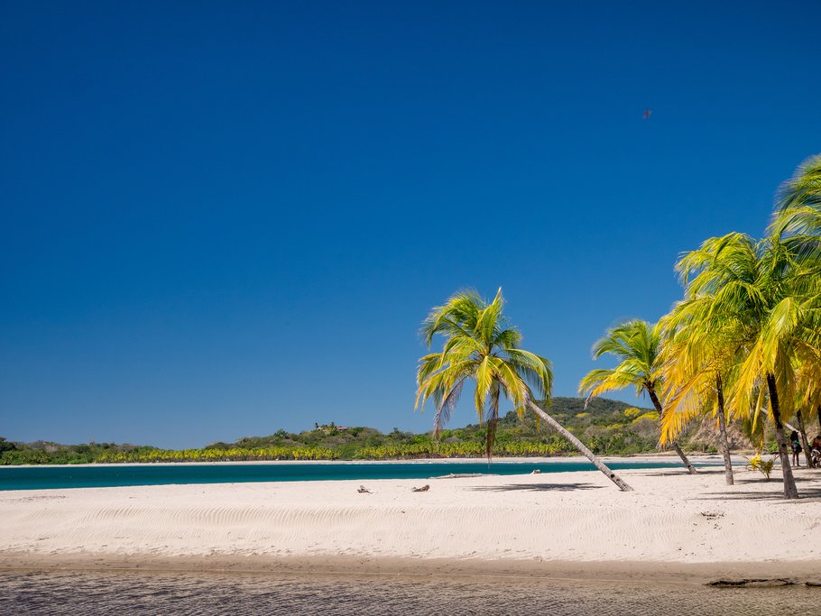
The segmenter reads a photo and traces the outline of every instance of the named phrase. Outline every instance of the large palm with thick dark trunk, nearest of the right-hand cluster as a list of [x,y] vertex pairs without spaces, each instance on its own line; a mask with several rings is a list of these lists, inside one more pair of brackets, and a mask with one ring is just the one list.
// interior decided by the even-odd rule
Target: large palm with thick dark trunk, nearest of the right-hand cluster
[[[802,256],[803,255],[803,256]],[[740,357],[730,392],[734,409],[757,417],[766,400],[775,423],[784,496],[798,498],[789,465],[784,421],[795,409],[797,367],[821,349],[817,276],[802,269],[807,253],[778,236],[761,242],[745,234],[706,240],[680,267],[688,289],[704,299],[698,320],[721,328],[727,354]]]

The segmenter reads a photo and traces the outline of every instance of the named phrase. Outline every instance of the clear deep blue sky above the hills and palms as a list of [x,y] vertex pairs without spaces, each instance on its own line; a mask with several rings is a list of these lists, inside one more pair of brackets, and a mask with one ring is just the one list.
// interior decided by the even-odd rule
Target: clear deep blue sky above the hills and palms
[[815,1],[0,12],[15,440],[428,429],[418,327],[466,286],[575,395],[680,251],[760,235],[821,152]]

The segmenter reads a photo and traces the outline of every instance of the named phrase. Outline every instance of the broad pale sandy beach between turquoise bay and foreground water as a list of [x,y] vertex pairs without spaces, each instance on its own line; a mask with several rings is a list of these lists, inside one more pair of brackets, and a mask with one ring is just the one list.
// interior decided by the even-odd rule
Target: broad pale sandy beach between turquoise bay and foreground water
[[821,473],[620,473],[0,492],[0,567],[821,579]]

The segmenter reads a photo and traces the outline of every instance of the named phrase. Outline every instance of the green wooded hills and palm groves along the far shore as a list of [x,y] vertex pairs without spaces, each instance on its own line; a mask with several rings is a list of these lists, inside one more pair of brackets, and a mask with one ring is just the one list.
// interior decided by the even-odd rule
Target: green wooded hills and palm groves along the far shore
[[[554,398],[550,413],[596,454],[633,455],[657,451],[659,422],[650,409],[635,409],[618,400],[596,398],[587,408],[579,398]],[[437,443],[428,434],[394,428],[315,424],[300,433],[278,430],[268,437],[244,437],[235,443],[213,443],[201,449],[163,450],[150,446],[91,443],[12,443],[0,437],[0,464],[90,464],[118,462],[219,462],[238,460],[386,460],[426,457],[480,457],[487,432],[477,424],[441,432]],[[715,449],[714,449],[715,450]],[[564,438],[539,424],[520,420],[511,411],[499,419],[494,456],[572,455]]]

